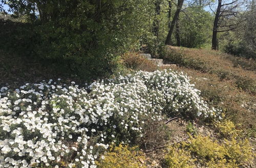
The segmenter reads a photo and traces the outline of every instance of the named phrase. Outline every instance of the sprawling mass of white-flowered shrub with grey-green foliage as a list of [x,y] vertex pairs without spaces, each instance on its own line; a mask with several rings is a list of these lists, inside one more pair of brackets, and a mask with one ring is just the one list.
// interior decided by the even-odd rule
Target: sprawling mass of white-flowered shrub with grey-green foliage
[[136,72],[78,87],[27,83],[0,92],[0,167],[95,167],[111,142],[133,143],[166,115],[215,117],[186,75]]

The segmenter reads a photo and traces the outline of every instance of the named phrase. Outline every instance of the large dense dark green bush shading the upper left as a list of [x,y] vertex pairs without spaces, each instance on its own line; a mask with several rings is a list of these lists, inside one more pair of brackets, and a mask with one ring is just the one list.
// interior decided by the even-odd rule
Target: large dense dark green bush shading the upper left
[[82,78],[108,76],[118,68],[119,55],[139,48],[139,37],[148,31],[149,2],[9,1],[15,16],[31,16],[27,17],[31,29],[11,32],[11,42],[27,51],[25,55],[59,62]]

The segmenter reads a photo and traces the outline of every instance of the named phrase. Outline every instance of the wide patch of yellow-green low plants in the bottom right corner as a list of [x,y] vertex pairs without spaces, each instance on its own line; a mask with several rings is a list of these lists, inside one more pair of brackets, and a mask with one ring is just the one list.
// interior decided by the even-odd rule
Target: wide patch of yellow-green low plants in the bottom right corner
[[169,147],[165,155],[169,167],[241,167],[252,158],[248,140],[231,138],[218,142],[202,135],[190,136],[188,142]]

